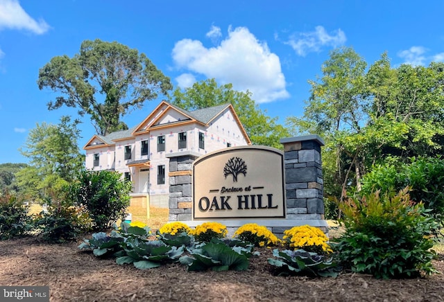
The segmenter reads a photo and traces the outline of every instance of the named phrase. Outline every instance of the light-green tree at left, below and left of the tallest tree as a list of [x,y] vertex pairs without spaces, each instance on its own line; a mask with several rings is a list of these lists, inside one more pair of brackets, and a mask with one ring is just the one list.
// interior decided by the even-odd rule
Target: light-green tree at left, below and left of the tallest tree
[[26,188],[26,195],[40,199],[45,195],[57,194],[60,189],[73,181],[83,166],[85,157],[80,154],[77,141],[80,138],[78,121],[71,122],[67,116],[60,124],[37,124],[31,130],[21,152],[29,159],[29,166],[17,172],[20,188]]

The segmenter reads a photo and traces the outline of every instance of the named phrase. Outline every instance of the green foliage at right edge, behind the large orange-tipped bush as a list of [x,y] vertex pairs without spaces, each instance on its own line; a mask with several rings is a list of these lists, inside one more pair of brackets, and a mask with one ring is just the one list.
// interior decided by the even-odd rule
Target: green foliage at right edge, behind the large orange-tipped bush
[[376,166],[364,177],[362,192],[368,194],[375,188],[387,192],[406,186],[414,202],[422,202],[438,221],[444,222],[444,159],[420,157],[398,166]]

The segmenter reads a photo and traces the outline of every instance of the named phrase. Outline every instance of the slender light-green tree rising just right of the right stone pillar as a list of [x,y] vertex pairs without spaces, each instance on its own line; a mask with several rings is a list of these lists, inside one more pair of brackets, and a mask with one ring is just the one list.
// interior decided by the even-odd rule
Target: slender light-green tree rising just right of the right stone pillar
[[343,197],[345,185],[359,186],[363,166],[360,148],[345,141],[361,132],[366,120],[366,62],[352,48],[336,48],[321,66],[323,76],[310,80],[311,94],[302,118],[289,117],[287,125],[300,133],[325,138],[323,163],[327,195]]

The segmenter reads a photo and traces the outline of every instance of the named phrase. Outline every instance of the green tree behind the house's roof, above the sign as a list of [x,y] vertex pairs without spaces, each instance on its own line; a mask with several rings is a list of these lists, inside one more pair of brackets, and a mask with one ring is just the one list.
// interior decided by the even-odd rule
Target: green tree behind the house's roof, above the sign
[[169,100],[187,110],[230,103],[254,145],[268,145],[282,149],[279,140],[289,136],[289,132],[277,123],[278,118],[266,116],[251,96],[250,91],[233,90],[231,84],[218,86],[213,78],[196,82],[185,91],[176,89]]

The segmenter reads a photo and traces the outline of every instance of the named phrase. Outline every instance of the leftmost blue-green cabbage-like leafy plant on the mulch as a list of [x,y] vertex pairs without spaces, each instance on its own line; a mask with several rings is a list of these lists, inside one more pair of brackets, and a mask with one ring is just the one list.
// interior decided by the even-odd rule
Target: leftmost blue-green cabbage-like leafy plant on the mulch
[[84,239],[78,246],[79,249],[92,250],[96,257],[107,258],[122,251],[123,238],[107,236],[106,233],[93,233],[91,239]]

